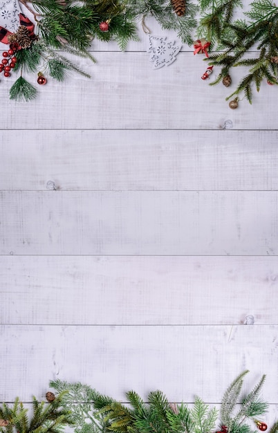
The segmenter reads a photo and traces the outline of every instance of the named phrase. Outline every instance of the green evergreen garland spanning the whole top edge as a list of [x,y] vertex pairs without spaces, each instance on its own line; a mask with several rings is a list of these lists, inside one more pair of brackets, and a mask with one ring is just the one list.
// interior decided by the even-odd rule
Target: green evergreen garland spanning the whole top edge
[[[210,42],[210,57],[205,59],[218,68],[218,75],[211,85],[230,77],[234,67],[248,67],[227,100],[243,93],[252,103],[254,89],[259,91],[261,82],[278,84],[278,7],[272,0],[253,0],[245,19],[234,20],[234,12],[242,8],[241,0],[195,0],[186,2],[184,15],[177,15],[171,0],[19,0],[28,8],[35,22],[35,35],[13,35],[13,41],[27,40],[25,48],[17,49],[14,71],[37,73],[48,71],[50,77],[62,81],[67,71],[82,71],[61,52],[89,57],[93,39],[102,42],[115,40],[121,50],[132,39],[138,41],[138,22],[147,32],[146,17],[154,17],[166,30],[175,30],[181,42],[192,46],[193,36]],[[201,17],[196,21],[196,12]],[[107,31],[100,24],[105,24]],[[26,30],[27,31],[27,30]],[[22,33],[23,32],[23,33]],[[215,50],[212,53],[212,50]],[[246,57],[250,50],[257,55]],[[217,71],[214,68],[214,71]],[[33,84],[17,80],[10,97],[15,100],[31,100],[36,91]]]

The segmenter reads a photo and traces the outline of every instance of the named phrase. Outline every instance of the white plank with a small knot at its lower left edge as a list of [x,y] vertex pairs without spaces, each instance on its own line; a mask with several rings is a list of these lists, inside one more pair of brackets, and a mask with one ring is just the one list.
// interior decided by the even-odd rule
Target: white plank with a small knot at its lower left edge
[[[277,131],[0,132],[1,190],[277,190]],[[26,143],[28,145],[26,146]]]

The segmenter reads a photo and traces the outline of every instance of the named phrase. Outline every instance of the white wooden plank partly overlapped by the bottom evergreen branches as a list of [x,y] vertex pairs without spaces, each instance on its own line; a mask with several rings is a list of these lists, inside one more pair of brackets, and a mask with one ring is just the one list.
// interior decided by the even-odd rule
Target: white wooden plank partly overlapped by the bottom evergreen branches
[[[277,326],[1,326],[2,400],[44,396],[48,380],[80,381],[124,399],[162,389],[169,400],[219,403],[245,369],[277,402]],[[210,372],[210,374],[208,374]],[[250,381],[250,382],[249,382]],[[249,384],[249,385],[248,385]]]

